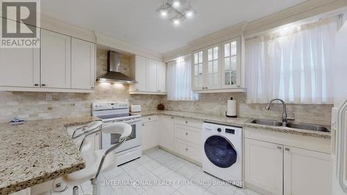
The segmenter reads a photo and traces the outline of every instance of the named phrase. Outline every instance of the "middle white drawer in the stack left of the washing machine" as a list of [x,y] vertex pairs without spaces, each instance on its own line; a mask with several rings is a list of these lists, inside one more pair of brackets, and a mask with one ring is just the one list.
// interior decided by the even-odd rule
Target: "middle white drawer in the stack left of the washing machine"
[[201,129],[175,124],[175,137],[193,144],[201,144]]

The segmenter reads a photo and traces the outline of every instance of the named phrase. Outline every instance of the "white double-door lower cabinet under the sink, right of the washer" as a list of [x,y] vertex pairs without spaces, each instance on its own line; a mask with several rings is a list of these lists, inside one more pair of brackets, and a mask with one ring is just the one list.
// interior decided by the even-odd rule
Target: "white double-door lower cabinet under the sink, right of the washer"
[[330,154],[244,139],[244,180],[262,194],[331,194]]

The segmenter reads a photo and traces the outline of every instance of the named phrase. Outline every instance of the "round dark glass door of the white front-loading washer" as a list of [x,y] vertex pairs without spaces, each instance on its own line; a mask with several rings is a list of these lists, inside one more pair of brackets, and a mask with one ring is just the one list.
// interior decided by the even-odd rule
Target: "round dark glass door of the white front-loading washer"
[[234,146],[225,137],[219,135],[208,137],[204,149],[208,160],[217,167],[228,168],[237,160]]

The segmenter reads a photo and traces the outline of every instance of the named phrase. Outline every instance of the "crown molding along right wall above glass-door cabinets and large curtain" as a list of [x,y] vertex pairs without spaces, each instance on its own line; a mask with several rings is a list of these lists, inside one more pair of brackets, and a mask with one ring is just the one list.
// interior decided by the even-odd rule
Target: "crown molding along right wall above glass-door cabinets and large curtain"
[[242,22],[224,28],[221,31],[198,38],[197,40],[189,42],[187,46],[164,53],[164,62],[169,62],[180,56],[188,55],[196,49],[201,49],[205,46],[228,40],[237,35],[248,37],[263,31],[268,31],[271,28],[276,28],[292,22],[298,22],[299,20],[330,12],[332,10],[337,10],[339,8],[344,8],[346,6],[346,0],[308,0],[272,15],[256,19],[252,22]]

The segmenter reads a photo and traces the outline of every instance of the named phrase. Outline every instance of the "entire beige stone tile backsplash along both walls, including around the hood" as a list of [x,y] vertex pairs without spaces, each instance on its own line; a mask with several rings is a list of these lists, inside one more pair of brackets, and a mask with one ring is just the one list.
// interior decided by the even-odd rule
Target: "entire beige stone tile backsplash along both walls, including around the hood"
[[[129,74],[129,56],[121,56],[120,71]],[[107,71],[107,51],[96,53],[96,76]],[[159,103],[165,110],[202,112],[224,115],[227,100],[232,96],[237,100],[239,117],[269,118],[280,120],[282,105],[273,104],[266,111],[265,104],[247,104],[244,93],[201,94],[198,101],[167,101],[167,96],[130,95],[128,85],[96,83],[94,94],[51,93],[52,100],[45,100],[44,92],[0,92],[0,122],[10,121],[13,117],[26,120],[51,119],[91,115],[92,101],[115,101],[128,99],[130,104],[142,105],[142,110],[155,110]],[[332,105],[287,105],[289,117],[296,121],[313,124],[330,124]]]

